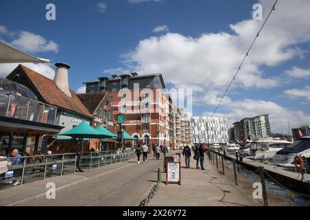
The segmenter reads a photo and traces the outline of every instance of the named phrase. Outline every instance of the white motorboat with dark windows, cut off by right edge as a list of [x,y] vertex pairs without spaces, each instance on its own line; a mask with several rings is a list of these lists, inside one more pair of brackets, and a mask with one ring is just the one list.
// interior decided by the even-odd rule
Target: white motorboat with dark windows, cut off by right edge
[[276,153],[270,163],[278,166],[294,167],[294,158],[296,155],[304,157],[307,164],[310,160],[310,137],[302,137],[302,139],[294,142],[287,148]]

